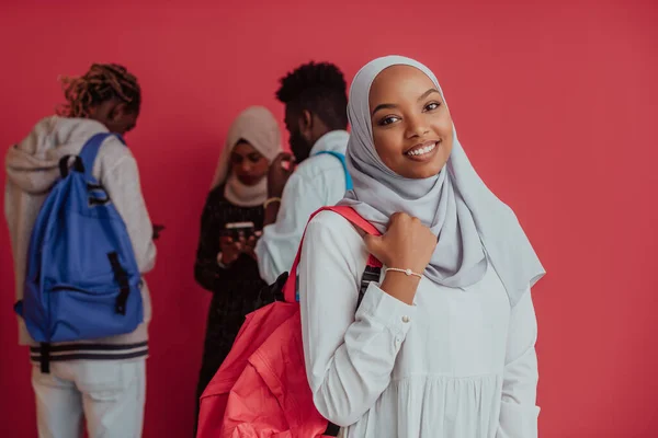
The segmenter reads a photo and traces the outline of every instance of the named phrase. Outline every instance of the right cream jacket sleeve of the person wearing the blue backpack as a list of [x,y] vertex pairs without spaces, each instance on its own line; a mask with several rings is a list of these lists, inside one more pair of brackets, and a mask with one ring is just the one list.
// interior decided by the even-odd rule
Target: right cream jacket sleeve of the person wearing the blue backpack
[[148,273],[156,264],[156,245],[135,158],[124,154],[103,176],[101,184],[126,224],[139,272]]

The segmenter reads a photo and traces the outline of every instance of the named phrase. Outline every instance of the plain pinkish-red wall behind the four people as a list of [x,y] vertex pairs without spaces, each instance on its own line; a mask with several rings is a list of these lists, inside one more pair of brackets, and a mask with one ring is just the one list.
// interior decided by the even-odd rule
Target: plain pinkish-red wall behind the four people
[[[58,74],[115,61],[143,84],[127,140],[151,216],[168,227],[149,276],[146,437],[192,434],[209,300],[192,273],[197,224],[232,117],[264,104],[283,125],[274,91],[286,71],[329,60],[351,79],[394,53],[434,70],[472,161],[548,270],[534,292],[541,436],[658,436],[655,2],[136,3],[0,5],[0,145],[61,101]],[[0,436],[34,437],[13,299],[2,226]]]

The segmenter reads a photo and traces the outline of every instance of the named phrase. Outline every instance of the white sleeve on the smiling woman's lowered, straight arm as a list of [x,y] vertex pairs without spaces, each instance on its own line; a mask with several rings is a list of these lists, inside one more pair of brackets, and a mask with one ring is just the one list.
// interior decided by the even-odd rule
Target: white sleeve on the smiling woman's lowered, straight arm
[[497,438],[537,436],[537,320],[530,289],[510,316]]

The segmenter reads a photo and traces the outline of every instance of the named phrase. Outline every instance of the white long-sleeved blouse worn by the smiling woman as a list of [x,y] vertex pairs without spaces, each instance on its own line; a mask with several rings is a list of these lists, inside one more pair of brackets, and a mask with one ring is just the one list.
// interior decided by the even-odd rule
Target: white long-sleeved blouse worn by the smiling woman
[[413,306],[371,283],[356,312],[367,258],[361,234],[324,211],[304,242],[298,274],[307,377],[316,407],[345,427],[347,437],[537,436],[530,290],[511,309],[490,266],[467,288],[423,277]]

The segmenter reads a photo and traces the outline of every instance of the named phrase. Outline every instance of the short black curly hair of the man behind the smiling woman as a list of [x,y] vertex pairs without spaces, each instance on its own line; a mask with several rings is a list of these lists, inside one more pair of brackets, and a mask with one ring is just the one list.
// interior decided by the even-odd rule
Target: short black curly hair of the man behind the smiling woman
[[347,129],[347,83],[333,64],[305,64],[280,82],[276,92],[280,102],[296,112],[306,110],[316,114],[329,129]]

